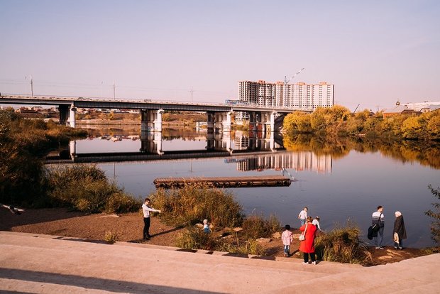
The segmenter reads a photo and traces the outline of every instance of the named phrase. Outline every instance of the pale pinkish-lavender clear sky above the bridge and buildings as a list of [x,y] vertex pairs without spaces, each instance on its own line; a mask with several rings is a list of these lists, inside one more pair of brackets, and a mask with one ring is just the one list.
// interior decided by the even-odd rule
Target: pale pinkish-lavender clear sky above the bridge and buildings
[[0,92],[224,102],[334,85],[353,111],[440,101],[440,1],[0,0]]

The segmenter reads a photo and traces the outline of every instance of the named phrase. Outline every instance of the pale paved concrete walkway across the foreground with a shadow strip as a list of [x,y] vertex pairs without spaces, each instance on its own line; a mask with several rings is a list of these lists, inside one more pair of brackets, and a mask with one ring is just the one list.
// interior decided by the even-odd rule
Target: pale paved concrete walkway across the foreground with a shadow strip
[[440,293],[440,254],[365,268],[0,232],[0,292]]

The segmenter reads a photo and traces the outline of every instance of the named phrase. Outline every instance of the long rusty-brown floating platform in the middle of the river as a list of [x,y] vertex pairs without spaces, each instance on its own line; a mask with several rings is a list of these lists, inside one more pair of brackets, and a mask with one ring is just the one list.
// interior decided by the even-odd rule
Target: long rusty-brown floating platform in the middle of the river
[[153,181],[156,188],[179,189],[185,185],[204,183],[209,187],[270,187],[290,186],[290,178],[282,175],[261,175],[251,177],[214,177],[214,178],[157,178]]

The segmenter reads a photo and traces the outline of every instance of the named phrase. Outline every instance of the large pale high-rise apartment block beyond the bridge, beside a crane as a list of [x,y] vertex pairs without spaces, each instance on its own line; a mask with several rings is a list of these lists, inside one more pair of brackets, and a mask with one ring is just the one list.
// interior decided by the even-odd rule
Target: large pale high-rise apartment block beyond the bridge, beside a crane
[[304,82],[285,85],[284,82],[238,82],[238,100],[261,107],[287,107],[290,109],[314,110],[317,107],[332,107],[334,85],[319,82],[307,85]]

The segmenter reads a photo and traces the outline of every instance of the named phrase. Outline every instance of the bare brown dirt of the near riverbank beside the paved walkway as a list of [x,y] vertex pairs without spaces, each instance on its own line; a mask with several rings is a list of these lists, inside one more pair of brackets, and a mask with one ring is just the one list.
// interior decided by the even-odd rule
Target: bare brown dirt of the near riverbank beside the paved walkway
[[[11,232],[24,232],[33,234],[48,234],[55,236],[69,236],[80,239],[104,241],[107,232],[116,234],[118,241],[138,244],[151,244],[159,246],[175,246],[177,236],[182,228],[170,227],[158,217],[151,219],[148,241],[142,239],[143,219],[140,213],[126,214],[84,214],[82,212],[69,212],[65,208],[27,209],[21,215],[11,214],[6,209],[0,209],[0,230]],[[297,229],[292,230],[298,234]],[[265,249],[266,258],[282,258],[283,246],[278,234],[270,239],[261,240]],[[290,258],[301,258],[297,249],[299,241],[295,239],[291,252],[295,253]],[[427,255],[424,249],[395,250],[385,247],[385,250],[370,248],[372,265],[395,263],[405,259]]]

